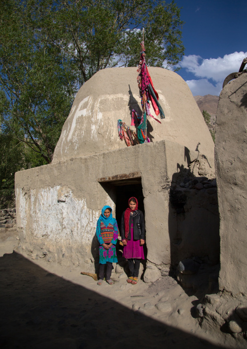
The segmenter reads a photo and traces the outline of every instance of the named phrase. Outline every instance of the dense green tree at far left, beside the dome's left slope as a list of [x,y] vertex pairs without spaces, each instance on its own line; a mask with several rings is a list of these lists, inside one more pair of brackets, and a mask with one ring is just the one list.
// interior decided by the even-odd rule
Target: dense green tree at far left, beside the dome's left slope
[[75,75],[63,52],[33,25],[24,2],[6,0],[0,8],[1,129],[50,163],[74,98]]

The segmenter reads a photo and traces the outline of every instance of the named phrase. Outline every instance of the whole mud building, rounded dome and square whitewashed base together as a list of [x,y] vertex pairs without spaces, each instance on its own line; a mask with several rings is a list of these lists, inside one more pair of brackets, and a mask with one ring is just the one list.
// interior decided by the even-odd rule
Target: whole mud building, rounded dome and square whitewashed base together
[[[33,259],[85,264],[94,271],[96,222],[106,204],[114,215],[117,202],[114,186],[105,186],[100,178],[137,173],[144,196],[148,261],[170,264],[177,236],[183,244],[176,260],[197,251],[212,256],[217,227],[206,238],[207,229],[199,224],[201,215],[213,221],[212,212],[203,207],[198,213],[195,200],[179,223],[170,202],[174,178],[191,162],[204,159],[204,175],[212,178],[212,137],[185,81],[161,68],[150,68],[150,74],[166,116],[161,124],[148,118],[150,143],[126,147],[118,136],[117,120],[130,125],[131,110],[141,112],[136,68],[101,70],[78,91],[52,164],[16,174],[19,251]],[[188,225],[192,235],[185,232]]]

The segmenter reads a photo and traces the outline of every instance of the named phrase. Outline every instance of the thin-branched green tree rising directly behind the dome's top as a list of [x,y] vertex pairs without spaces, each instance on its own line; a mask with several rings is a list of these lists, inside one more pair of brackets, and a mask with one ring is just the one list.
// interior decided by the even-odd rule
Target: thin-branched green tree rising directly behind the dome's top
[[41,0],[42,34],[71,58],[81,86],[101,69],[137,66],[142,27],[147,64],[171,68],[181,59],[180,9],[160,0]]

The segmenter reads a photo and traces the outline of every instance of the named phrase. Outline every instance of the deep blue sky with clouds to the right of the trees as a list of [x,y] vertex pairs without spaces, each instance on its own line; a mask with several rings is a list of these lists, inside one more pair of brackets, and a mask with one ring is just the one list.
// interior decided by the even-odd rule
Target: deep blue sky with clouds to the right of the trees
[[177,72],[193,95],[219,95],[225,77],[247,57],[247,0],[175,0],[185,55]]

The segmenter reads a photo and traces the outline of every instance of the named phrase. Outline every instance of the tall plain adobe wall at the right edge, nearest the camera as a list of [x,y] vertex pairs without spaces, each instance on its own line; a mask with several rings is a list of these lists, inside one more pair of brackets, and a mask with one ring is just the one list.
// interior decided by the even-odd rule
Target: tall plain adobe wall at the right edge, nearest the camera
[[216,114],[215,171],[220,211],[219,286],[247,295],[247,74],[220,94]]

